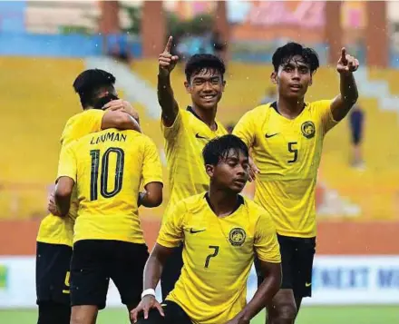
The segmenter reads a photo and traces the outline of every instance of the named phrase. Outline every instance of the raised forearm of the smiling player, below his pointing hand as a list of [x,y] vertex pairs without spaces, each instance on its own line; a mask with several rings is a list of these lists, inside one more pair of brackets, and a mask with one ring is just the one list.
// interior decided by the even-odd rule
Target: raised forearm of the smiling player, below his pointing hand
[[161,105],[162,119],[172,123],[177,116],[179,107],[174,98],[169,74],[158,74],[158,103]]

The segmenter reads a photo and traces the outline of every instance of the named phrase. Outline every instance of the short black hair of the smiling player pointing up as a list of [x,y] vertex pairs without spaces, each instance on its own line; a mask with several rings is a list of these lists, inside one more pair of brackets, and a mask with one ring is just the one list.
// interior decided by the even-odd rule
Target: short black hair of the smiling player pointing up
[[198,74],[202,70],[219,71],[223,77],[226,72],[226,65],[219,56],[213,54],[194,54],[190,57],[184,69],[186,80],[190,82],[192,74]]

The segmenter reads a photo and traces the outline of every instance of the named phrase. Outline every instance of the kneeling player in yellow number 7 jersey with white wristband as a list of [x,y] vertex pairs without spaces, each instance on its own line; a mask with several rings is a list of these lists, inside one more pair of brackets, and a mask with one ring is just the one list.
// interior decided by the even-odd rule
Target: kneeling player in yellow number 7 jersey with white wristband
[[[202,155],[209,191],[170,209],[145,266],[141,303],[131,311],[134,323],[249,323],[280,287],[273,221],[268,211],[239,195],[248,181],[247,145],[234,135],[224,135],[208,142]],[[161,305],[154,289],[165,261],[181,241],[180,279]],[[246,305],[254,251],[265,280]]]

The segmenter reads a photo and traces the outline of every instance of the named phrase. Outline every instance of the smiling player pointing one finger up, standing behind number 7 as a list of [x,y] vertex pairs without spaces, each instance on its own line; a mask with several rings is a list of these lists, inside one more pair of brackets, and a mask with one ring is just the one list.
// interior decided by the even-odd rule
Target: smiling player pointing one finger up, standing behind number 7
[[[225,87],[225,64],[211,54],[195,54],[185,67],[184,86],[191,105],[180,109],[170,85],[170,73],[178,56],[170,54],[172,37],[159,58],[158,101],[161,105],[161,129],[165,138],[170,198],[165,214],[184,198],[207,191],[209,179],[203,168],[201,151],[209,140],[227,134],[216,120],[218,103]],[[162,273],[162,296],[166,297],[179,279],[182,247],[178,247]]]

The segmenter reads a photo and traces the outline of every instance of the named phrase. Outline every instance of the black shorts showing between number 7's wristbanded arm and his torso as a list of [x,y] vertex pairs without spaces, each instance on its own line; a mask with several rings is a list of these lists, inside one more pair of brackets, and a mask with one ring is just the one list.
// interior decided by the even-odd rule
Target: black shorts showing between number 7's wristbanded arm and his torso
[[163,267],[161,274],[162,300],[173,290],[183,268],[183,244],[175,248]]

